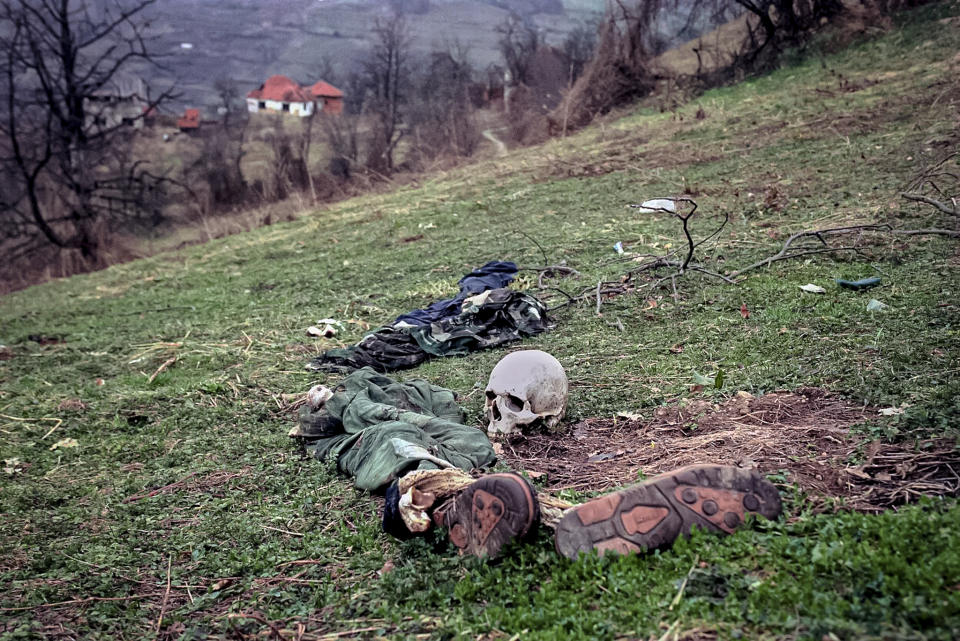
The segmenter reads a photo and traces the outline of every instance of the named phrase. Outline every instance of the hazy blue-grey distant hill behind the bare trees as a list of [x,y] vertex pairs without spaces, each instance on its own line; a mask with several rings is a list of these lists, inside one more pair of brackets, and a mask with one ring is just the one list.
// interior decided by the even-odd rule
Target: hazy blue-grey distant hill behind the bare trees
[[370,46],[377,16],[392,5],[410,15],[415,52],[459,42],[483,69],[500,61],[495,27],[511,11],[530,20],[548,42],[603,13],[604,0],[163,0],[149,9],[152,50],[165,69],[137,69],[154,86],[175,83],[171,107],[212,109],[220,78],[241,93],[269,75],[318,80],[324,61],[346,73]]

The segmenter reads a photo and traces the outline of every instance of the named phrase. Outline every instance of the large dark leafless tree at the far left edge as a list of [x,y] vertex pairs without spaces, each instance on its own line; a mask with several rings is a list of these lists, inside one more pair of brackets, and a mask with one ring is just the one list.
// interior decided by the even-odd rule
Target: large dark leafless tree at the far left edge
[[[0,6],[0,166],[9,181],[0,228],[8,247],[27,251],[39,241],[95,261],[98,229],[143,213],[141,194],[161,178],[129,161],[130,124],[169,95],[127,95],[130,86],[146,91],[126,70],[152,61],[143,11],[154,1]],[[105,121],[117,101],[136,108]]]

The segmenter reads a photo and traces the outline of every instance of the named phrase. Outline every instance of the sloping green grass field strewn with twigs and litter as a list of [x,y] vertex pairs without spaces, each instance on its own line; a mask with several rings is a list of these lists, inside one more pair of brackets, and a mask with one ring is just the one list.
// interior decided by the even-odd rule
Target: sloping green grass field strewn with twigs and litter
[[[771,473],[785,515],[729,538],[569,561],[543,529],[485,563],[457,557],[441,535],[384,535],[379,499],[302,458],[286,434],[300,395],[337,380],[304,370],[311,356],[451,294],[487,260],[566,261],[580,277],[545,284],[573,294],[636,265],[623,258],[683,247],[675,219],[627,203],[691,194],[697,238],[729,215],[697,249],[715,272],[804,229],[954,228],[898,193],[960,145],[958,15],[955,1],[931,4],[882,36],[676,113],[638,109],[393,193],[3,297],[0,639],[957,638],[955,498],[865,513],[786,469]],[[841,467],[862,463],[869,441],[912,452],[954,438],[957,240],[857,242],[735,285],[688,272],[674,293],[666,278],[606,298],[600,315],[591,296],[560,307],[565,297],[538,292],[524,271],[515,286],[558,309],[556,329],[521,346],[566,368],[565,431],[815,387],[894,408],[865,410],[869,420],[837,437],[851,452]],[[833,282],[866,276],[882,285]],[[827,291],[805,293],[807,283]],[[870,299],[886,307],[868,312]],[[328,316],[347,331],[306,337]],[[504,353],[399,377],[457,391],[479,425]],[[696,386],[710,378],[722,384]]]

